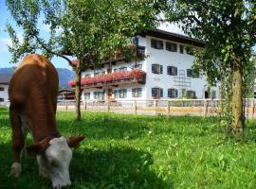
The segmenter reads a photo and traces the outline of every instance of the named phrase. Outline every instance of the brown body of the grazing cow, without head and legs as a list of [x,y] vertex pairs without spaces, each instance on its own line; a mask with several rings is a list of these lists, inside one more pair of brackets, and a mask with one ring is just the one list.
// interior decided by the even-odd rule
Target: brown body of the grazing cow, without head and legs
[[[45,56],[27,55],[9,82],[10,108],[20,113],[31,130],[55,131],[58,85],[57,71]],[[44,134],[37,132],[35,137]]]

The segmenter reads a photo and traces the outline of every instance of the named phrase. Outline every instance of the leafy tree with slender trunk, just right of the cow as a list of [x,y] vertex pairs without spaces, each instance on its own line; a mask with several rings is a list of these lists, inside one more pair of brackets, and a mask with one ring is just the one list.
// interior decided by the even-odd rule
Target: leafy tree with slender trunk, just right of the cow
[[[38,49],[70,65],[66,55],[76,57],[76,119],[80,120],[82,70],[113,51],[126,49],[132,36],[154,27],[155,5],[154,0],[7,0],[17,26],[24,30],[23,42],[19,42],[8,25],[12,61]],[[40,19],[50,28],[48,40],[40,37]]]

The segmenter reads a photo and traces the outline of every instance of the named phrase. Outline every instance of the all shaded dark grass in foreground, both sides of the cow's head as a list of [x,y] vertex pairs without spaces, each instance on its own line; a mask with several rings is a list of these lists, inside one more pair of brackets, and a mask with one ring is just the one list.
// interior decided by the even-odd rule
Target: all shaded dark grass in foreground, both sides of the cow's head
[[[1,144],[0,188],[51,188],[49,179],[38,175],[35,158],[25,157],[19,178],[9,177],[12,163],[10,144]],[[4,154],[4,155],[3,155]],[[71,188],[173,188],[157,178],[151,165],[152,155],[134,148],[75,150],[70,164]]]

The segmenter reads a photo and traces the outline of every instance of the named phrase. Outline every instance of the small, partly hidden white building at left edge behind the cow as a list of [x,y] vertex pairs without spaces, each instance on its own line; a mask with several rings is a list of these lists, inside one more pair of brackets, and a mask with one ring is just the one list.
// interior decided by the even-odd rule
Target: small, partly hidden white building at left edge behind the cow
[[9,100],[8,88],[10,75],[0,74],[0,102]]

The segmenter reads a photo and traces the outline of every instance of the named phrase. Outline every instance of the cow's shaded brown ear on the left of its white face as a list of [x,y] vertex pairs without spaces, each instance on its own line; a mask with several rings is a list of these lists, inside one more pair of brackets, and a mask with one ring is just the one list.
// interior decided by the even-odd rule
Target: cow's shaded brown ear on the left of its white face
[[42,154],[46,151],[46,148],[49,146],[49,141],[52,139],[52,137],[47,137],[40,143],[37,143],[32,146],[27,146],[27,154],[31,156],[36,156],[39,154]]

